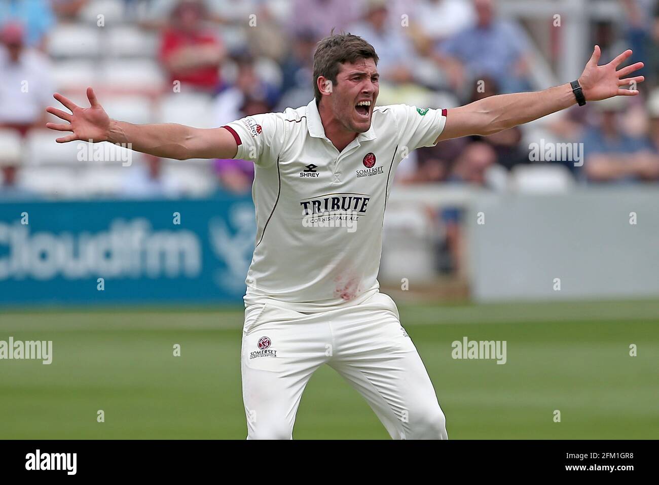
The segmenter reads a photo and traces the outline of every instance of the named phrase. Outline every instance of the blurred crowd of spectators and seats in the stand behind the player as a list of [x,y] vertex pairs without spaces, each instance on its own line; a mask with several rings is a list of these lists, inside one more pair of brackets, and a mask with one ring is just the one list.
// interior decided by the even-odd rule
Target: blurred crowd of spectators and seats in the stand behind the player
[[[594,44],[602,48],[600,63],[634,49],[629,62],[645,62],[641,96],[416,150],[401,164],[398,183],[561,190],[659,181],[659,0],[619,5],[623,15],[592,20],[590,44],[571,48],[583,51],[584,63]],[[332,28],[364,37],[378,52],[381,105],[451,108],[548,87],[531,75],[543,49],[534,48],[523,22],[500,15],[498,7],[495,0],[0,0],[0,198],[57,197],[53,181],[67,176],[43,176],[47,170],[89,181],[96,188],[80,193],[90,196],[248,193],[253,167],[243,160],[173,167],[140,156],[129,169],[107,168],[102,179],[81,176],[84,168],[67,162],[58,168],[61,154],[47,148],[55,134],[50,141],[43,134],[44,108],[56,90],[82,100],[88,79],[111,117],[134,113],[139,121],[219,126],[297,108],[313,98],[312,55]],[[554,28],[552,18],[546,28]],[[107,32],[97,38],[94,29]],[[560,36],[552,39],[550,51],[566,48]],[[534,160],[533,143],[583,148],[568,160]],[[36,183],[40,174],[44,180]]]

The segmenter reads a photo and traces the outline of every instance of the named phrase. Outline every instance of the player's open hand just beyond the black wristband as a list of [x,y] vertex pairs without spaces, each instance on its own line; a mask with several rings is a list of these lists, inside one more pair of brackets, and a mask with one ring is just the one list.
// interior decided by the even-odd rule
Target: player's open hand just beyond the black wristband
[[586,64],[581,76],[579,76],[579,84],[581,84],[583,95],[587,101],[599,101],[613,98],[614,96],[636,96],[639,94],[639,90],[637,89],[623,89],[621,86],[629,86],[633,83],[638,84],[645,80],[643,76],[625,78],[625,76],[641,69],[643,63],[637,62],[616,71],[619,65],[629,59],[631,53],[631,49],[627,49],[610,63],[598,66],[597,63],[600,60],[602,51],[600,51],[600,46],[595,46],[590,60]]

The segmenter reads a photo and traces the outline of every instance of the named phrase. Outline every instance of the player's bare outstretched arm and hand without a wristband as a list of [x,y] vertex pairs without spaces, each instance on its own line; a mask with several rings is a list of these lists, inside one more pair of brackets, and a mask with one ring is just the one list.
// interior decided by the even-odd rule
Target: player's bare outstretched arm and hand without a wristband
[[129,144],[132,150],[163,158],[233,158],[238,150],[236,141],[224,128],[201,129],[177,123],[134,125],[111,119],[96,99],[92,88],[87,88],[89,108],[81,108],[61,94],[55,99],[71,113],[49,106],[46,111],[67,123],[46,123],[57,131],[71,131],[71,135],[56,139],[57,143],[81,140],[109,141]]

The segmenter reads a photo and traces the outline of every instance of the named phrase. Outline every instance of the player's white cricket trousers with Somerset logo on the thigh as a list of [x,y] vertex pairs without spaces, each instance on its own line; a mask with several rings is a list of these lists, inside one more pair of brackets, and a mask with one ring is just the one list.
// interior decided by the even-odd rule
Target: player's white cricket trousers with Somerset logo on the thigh
[[272,300],[245,309],[241,372],[247,439],[293,439],[311,375],[328,364],[393,439],[447,439],[445,418],[398,309],[376,292],[357,306],[300,313]]

